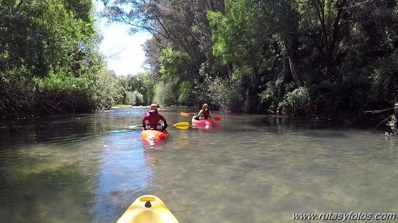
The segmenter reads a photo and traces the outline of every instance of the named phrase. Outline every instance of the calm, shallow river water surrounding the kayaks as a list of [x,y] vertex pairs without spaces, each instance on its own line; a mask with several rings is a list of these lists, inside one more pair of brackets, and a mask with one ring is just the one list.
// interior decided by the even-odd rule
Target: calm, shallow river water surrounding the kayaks
[[[398,213],[394,137],[320,121],[212,112],[222,117],[215,128],[169,127],[169,138],[153,144],[139,137],[146,111],[0,123],[0,223],[115,223],[144,194],[162,199],[180,223]],[[161,109],[169,125],[190,122],[181,111],[197,112]]]

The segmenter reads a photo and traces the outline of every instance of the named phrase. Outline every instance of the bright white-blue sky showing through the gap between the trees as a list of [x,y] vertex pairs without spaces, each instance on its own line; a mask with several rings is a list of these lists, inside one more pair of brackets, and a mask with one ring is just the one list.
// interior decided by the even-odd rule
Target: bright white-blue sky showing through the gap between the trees
[[[101,0],[93,0],[97,11],[104,8]],[[145,53],[142,44],[151,38],[150,33],[135,33],[129,35],[129,25],[112,23],[106,25],[107,19],[97,20],[103,35],[100,50],[107,58],[108,67],[117,75],[137,74],[143,72]],[[116,56],[113,56],[115,55]]]

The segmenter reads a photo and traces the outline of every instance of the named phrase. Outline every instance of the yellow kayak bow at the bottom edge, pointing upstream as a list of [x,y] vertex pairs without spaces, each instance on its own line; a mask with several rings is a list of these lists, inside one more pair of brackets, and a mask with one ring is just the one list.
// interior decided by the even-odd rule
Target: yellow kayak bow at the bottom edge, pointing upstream
[[160,198],[141,196],[116,223],[179,223]]

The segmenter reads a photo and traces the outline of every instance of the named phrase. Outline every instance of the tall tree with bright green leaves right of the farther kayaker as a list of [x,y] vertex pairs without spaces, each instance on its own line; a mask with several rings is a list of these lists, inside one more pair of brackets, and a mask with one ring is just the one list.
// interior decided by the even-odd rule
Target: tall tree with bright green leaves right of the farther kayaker
[[235,77],[243,78],[246,84],[246,100],[243,110],[253,111],[258,102],[259,66],[263,59],[261,50],[267,47],[269,30],[264,12],[259,4],[247,0],[226,0],[225,14],[209,12],[210,24],[216,28],[213,53],[231,62]]

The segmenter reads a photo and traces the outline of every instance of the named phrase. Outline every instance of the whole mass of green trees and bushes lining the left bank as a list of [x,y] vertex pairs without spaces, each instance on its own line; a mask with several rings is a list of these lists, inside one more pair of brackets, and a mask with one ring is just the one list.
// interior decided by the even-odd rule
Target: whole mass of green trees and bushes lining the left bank
[[91,0],[1,1],[0,115],[89,112],[121,100]]

